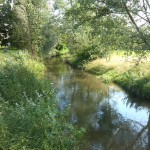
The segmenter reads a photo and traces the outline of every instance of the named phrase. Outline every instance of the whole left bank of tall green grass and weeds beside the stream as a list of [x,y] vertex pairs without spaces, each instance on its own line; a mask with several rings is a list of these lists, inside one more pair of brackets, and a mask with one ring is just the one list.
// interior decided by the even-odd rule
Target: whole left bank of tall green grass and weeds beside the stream
[[60,112],[45,66],[24,52],[0,52],[0,149],[78,149],[81,130]]

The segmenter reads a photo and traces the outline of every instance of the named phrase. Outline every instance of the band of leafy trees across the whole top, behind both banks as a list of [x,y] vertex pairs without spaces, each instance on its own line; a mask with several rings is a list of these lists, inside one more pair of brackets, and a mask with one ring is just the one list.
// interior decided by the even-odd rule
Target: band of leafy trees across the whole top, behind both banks
[[148,0],[6,0],[0,8],[1,44],[32,55],[68,48],[88,60],[149,50]]

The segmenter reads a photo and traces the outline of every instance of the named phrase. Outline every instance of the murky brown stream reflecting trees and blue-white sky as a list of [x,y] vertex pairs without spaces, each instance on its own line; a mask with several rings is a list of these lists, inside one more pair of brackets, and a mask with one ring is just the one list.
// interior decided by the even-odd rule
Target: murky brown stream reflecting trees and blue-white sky
[[59,59],[47,61],[47,67],[61,109],[71,107],[72,123],[87,130],[81,150],[150,150],[150,102]]

